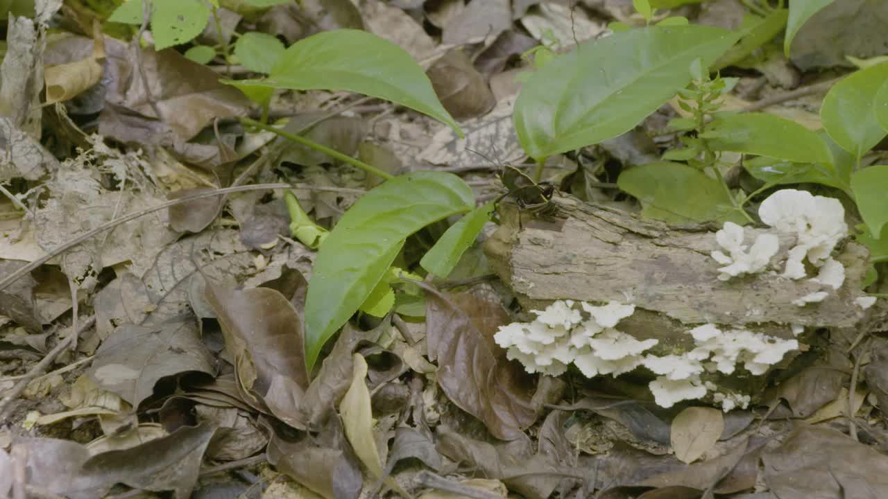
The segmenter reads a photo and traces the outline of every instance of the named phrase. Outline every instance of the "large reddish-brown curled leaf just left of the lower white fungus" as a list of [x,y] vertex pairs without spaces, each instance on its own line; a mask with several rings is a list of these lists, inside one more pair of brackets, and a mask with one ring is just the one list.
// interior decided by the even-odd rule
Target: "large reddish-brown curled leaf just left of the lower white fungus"
[[429,359],[438,360],[438,384],[448,399],[496,438],[522,438],[536,420],[531,382],[494,342],[496,329],[510,321],[499,302],[426,288],[425,317]]

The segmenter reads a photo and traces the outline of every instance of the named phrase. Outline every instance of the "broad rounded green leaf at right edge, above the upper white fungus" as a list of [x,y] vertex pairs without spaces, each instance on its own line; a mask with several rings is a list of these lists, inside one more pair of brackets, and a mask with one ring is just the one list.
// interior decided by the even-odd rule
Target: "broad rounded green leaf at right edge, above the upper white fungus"
[[[860,158],[884,139],[876,116],[876,95],[888,80],[888,62],[861,69],[833,87],[823,99],[823,128],[836,143]],[[884,102],[882,100],[881,102]]]

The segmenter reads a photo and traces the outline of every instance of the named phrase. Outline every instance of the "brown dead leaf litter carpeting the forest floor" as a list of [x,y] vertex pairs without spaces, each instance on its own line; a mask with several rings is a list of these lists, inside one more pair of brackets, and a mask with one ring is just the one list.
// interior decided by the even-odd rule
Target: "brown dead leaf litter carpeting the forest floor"
[[[884,17],[881,6],[856,4],[815,15],[793,42],[792,63],[805,71],[879,55],[878,30],[827,36]],[[298,184],[303,208],[327,227],[378,179],[235,123],[259,109],[219,82],[234,70],[222,59],[203,65],[178,49],[96,34],[91,21],[104,15],[96,12],[75,20],[81,28],[52,33],[60,3],[37,7],[34,19],[9,16],[0,68],[0,279],[53,258],[0,289],[0,497],[189,497],[215,486],[273,496],[284,482],[293,486],[287,496],[330,499],[877,498],[888,490],[888,367],[875,335],[859,345],[821,335],[749,410],[664,410],[630,376],[533,377],[507,360],[493,335],[520,313],[507,286],[475,284],[489,267],[470,261],[472,249],[451,274],[462,282],[424,283],[424,297],[410,298],[419,307],[359,313],[307,372],[314,252],[290,238],[281,187],[155,210],[55,254],[133,212],[240,186],[244,171],[256,183]],[[291,118],[290,131],[386,172],[456,171],[481,196],[492,193],[496,162],[525,160],[511,124],[515,76],[531,70],[521,56],[600,36],[611,20],[632,22],[631,11],[595,1],[230,8],[214,13],[227,36],[211,21],[201,43],[248,26],[288,45],[365,27],[399,44],[424,65],[466,139],[341,92],[277,92],[269,111]],[[42,107],[44,74],[54,107]],[[630,133],[662,131],[652,126]],[[546,172],[583,176],[593,186],[584,197],[618,205],[597,187],[607,168],[651,157],[649,143],[623,139],[619,151],[587,147]]]

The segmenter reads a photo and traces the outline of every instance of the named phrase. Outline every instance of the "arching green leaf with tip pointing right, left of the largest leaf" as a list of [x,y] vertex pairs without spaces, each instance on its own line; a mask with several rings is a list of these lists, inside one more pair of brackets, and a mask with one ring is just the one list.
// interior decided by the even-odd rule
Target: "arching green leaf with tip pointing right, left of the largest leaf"
[[303,38],[283,52],[268,78],[239,80],[236,86],[242,90],[257,86],[354,91],[430,115],[463,136],[435,95],[423,68],[410,54],[385,38],[357,29],[336,29]]

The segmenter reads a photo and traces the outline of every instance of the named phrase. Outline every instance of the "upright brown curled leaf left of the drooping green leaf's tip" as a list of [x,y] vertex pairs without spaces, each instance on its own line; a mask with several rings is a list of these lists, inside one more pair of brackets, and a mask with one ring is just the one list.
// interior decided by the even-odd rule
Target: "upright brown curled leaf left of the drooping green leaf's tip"
[[204,292],[225,334],[242,396],[259,410],[304,429],[300,405],[309,379],[296,308],[270,288],[237,291],[208,282]]

